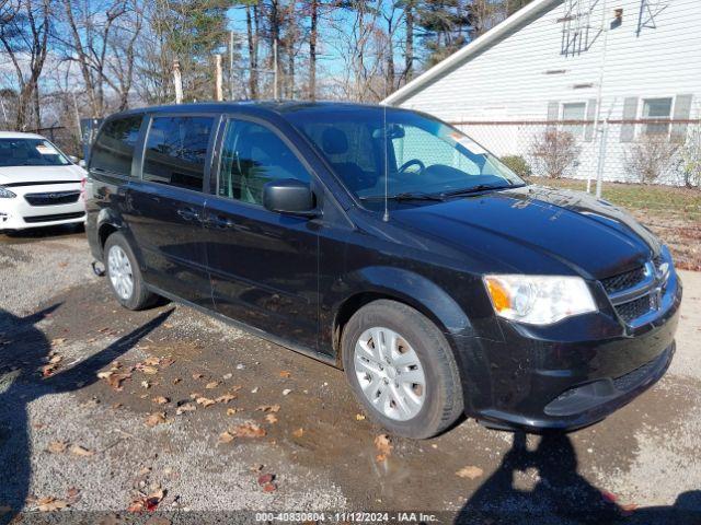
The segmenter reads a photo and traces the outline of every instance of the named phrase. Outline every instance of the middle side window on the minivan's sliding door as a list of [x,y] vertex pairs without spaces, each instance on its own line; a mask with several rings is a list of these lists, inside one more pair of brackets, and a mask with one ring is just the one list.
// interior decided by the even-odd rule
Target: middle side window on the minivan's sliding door
[[156,117],[143,152],[143,180],[202,191],[212,117]]

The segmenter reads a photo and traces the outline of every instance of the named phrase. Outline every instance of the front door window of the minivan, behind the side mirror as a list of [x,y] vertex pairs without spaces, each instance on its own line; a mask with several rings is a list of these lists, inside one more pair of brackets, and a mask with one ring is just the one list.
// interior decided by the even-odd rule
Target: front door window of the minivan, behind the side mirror
[[217,195],[252,205],[263,203],[263,186],[294,178],[309,184],[309,172],[271,129],[231,119],[221,144]]

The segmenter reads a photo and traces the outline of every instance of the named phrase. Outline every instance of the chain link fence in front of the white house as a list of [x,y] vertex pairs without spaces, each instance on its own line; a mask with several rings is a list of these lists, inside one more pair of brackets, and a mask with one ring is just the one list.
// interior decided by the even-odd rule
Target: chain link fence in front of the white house
[[701,187],[701,119],[451,124],[522,176]]

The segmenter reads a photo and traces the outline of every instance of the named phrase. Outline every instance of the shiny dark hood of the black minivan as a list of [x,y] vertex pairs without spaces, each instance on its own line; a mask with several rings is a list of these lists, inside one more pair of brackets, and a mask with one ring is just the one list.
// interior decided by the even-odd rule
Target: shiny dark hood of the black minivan
[[[631,215],[581,191],[525,186],[397,209],[392,220],[481,254],[493,271],[600,279],[641,266],[659,241]],[[495,262],[498,262],[495,265]]]

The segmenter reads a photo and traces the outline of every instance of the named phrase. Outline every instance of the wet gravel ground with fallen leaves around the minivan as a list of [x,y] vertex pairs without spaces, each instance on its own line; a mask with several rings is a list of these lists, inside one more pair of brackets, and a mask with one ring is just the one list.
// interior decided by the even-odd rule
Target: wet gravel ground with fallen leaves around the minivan
[[[682,273],[669,373],[606,421],[540,438],[468,420],[433,440],[392,439],[378,460],[382,429],[364,418],[342,372],[186,307],[124,311],[89,260],[81,234],[0,237],[0,523],[19,509],[32,518],[47,497],[70,505],[53,514],[62,523],[119,523],[159,487],[159,514],[173,523],[252,520],[225,514],[241,510],[701,523],[701,273]],[[119,390],[96,376],[115,361],[130,373]],[[220,401],[205,408],[202,397]],[[196,409],[177,415],[184,404]],[[159,412],[164,422],[147,425]],[[265,435],[220,442],[251,422]],[[67,450],[49,452],[56,442]],[[456,475],[463,467],[471,477]]]

